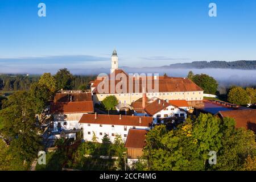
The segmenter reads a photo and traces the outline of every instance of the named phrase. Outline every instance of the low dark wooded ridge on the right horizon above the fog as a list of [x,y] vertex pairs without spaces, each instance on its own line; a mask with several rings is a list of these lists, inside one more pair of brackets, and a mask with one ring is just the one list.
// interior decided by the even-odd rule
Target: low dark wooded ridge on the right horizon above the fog
[[[192,63],[176,63],[163,66],[165,68],[226,68],[226,69],[256,69],[256,61],[193,61]],[[163,68],[162,67],[162,68]]]

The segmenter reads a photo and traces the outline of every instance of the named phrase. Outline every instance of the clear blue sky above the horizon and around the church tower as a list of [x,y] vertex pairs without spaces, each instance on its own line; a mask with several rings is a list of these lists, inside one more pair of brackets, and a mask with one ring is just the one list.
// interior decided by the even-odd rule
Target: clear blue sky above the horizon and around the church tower
[[254,0],[0,0],[0,73],[109,68],[114,48],[129,67],[256,60],[255,42]]

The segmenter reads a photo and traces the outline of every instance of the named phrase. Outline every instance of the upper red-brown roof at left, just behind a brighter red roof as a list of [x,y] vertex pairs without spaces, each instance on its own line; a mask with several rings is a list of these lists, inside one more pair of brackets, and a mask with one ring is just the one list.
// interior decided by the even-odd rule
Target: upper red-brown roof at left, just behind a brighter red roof
[[78,101],[92,101],[92,94],[90,92],[82,93],[56,93],[54,102],[78,102]]

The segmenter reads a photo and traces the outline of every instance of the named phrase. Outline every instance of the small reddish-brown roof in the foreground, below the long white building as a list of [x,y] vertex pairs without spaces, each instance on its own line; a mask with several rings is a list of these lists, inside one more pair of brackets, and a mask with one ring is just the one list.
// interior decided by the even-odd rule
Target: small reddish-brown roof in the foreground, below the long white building
[[146,130],[130,129],[127,135],[126,148],[143,148],[146,145]]

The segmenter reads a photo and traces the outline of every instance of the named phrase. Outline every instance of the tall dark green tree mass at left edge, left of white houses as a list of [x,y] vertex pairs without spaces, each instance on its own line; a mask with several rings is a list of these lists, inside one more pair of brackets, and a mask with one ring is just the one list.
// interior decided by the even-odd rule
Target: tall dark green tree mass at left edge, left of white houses
[[0,133],[10,139],[10,154],[29,164],[42,149],[42,139],[36,127],[34,103],[27,92],[18,91],[3,102],[0,111]]

